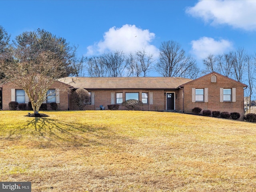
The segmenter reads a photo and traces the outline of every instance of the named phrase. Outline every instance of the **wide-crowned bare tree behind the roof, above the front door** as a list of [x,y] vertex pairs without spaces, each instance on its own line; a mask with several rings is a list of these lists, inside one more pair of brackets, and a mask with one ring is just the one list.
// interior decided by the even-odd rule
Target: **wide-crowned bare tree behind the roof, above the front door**
[[165,77],[187,76],[188,69],[195,64],[194,58],[186,56],[180,44],[175,41],[162,42],[156,71]]

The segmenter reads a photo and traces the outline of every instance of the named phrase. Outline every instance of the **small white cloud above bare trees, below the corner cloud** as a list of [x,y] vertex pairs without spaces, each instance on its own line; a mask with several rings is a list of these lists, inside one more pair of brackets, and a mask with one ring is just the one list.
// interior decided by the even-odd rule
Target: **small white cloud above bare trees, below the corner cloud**
[[233,48],[232,42],[228,40],[214,40],[210,37],[202,37],[198,40],[191,41],[192,54],[198,59],[204,59],[209,54],[223,54],[224,52],[230,51]]

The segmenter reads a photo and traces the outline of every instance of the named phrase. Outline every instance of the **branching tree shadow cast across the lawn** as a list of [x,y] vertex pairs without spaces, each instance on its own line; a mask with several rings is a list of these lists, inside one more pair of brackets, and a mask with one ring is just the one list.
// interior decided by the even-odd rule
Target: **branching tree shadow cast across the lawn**
[[38,142],[40,145],[43,144],[43,147],[59,144],[88,146],[104,145],[104,140],[107,140],[110,135],[114,136],[115,134],[104,126],[92,127],[78,122],[67,123],[51,118],[32,118],[26,124],[11,130],[6,139],[17,140],[30,137],[28,140],[35,140],[35,144]]

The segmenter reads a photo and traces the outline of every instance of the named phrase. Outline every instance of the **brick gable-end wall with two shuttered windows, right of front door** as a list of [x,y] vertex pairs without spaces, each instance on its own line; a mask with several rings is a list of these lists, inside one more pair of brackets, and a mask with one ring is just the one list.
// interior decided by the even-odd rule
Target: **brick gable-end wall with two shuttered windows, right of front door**
[[[212,75],[216,76],[216,82],[212,82]],[[192,102],[192,88],[204,89],[208,88],[208,102]],[[220,88],[235,88],[235,95],[232,93],[232,100],[229,102],[221,102]],[[206,98],[204,98],[206,99]],[[234,80],[230,80],[219,74],[209,74],[191,81],[184,85],[184,112],[191,113],[194,107],[200,107],[202,110],[220,111],[220,112],[239,112],[240,120],[244,115],[244,88],[243,85]]]

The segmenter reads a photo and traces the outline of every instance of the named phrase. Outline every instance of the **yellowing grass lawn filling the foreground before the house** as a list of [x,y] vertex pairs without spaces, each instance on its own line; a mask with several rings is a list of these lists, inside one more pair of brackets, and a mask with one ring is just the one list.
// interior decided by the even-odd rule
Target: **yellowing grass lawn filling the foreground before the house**
[[43,113],[0,111],[0,181],[32,182],[32,192],[256,190],[256,124],[168,112]]

